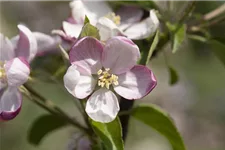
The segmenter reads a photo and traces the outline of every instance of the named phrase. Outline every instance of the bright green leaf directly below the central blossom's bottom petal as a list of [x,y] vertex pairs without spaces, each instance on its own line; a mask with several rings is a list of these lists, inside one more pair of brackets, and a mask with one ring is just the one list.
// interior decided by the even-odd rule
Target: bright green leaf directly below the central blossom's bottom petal
[[90,120],[94,132],[100,137],[107,150],[123,150],[122,129],[118,118],[110,123]]

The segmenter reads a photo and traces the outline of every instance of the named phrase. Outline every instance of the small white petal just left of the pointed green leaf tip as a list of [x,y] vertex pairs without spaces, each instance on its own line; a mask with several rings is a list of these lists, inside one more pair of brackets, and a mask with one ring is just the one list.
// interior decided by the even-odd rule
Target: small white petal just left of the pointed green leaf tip
[[71,24],[69,22],[63,21],[63,30],[66,37],[78,38],[82,30],[83,24]]

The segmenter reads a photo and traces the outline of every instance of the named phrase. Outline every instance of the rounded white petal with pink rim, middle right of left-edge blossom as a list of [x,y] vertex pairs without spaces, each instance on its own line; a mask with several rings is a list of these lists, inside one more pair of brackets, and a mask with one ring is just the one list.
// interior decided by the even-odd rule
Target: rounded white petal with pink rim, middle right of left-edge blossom
[[18,87],[28,80],[30,68],[23,58],[14,58],[5,64],[7,82],[9,86]]

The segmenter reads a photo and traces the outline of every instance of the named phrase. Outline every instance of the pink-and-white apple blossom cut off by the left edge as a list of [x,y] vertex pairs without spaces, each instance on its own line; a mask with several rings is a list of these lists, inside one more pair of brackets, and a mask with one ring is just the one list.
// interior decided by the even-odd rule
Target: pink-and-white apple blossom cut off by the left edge
[[30,74],[29,63],[37,53],[37,41],[32,32],[18,25],[19,39],[10,41],[0,34],[0,120],[17,116],[22,105],[18,87]]

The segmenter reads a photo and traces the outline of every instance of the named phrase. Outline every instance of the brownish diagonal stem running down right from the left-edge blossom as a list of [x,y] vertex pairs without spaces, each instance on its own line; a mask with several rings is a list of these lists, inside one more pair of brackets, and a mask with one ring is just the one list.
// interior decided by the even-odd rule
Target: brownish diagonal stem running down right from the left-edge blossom
[[[28,84],[24,84],[26,92],[22,91],[24,95],[30,99],[32,102],[36,103],[46,111],[50,112],[53,115],[59,116],[62,119],[68,121],[68,123],[74,125],[75,127],[82,130],[84,133],[90,134],[90,130],[83,127],[76,120],[69,117],[63,110],[53,104],[52,101],[45,99],[42,95],[38,94],[34,89],[32,89]],[[38,99],[37,99],[38,98]]]

